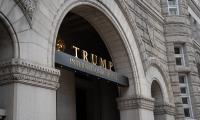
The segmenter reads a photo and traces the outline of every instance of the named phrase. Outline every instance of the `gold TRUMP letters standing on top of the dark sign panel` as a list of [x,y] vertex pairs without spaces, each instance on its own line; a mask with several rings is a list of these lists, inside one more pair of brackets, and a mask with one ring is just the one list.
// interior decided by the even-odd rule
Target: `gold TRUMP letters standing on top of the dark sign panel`
[[[81,50],[80,48],[76,46],[72,46],[75,52],[75,57],[83,59],[84,61],[90,62],[94,65],[102,66],[105,69],[112,70],[113,63],[111,61],[108,61],[106,59],[103,59],[102,57],[99,57],[93,53],[88,54],[87,51]],[[78,56],[81,55],[81,56]]]

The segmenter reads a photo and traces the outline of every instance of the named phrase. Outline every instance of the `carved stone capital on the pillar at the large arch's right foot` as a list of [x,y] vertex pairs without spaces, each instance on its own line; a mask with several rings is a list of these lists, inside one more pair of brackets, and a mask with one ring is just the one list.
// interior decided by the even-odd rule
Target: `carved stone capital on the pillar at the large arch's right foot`
[[118,98],[117,102],[119,110],[147,109],[153,111],[154,109],[154,99],[151,98],[126,97]]

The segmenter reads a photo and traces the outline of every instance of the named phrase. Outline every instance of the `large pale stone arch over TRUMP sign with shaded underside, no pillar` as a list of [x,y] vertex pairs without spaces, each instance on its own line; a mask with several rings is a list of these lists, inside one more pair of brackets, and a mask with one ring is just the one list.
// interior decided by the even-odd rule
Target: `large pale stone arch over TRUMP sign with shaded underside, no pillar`
[[[61,6],[53,22],[56,29],[51,31],[53,33],[51,40],[53,46],[50,47],[52,48],[51,64],[54,65],[55,40],[59,27],[65,15],[69,11],[72,11],[92,24],[104,40],[116,66],[116,71],[129,77],[129,89],[121,89],[121,95],[135,96],[137,94],[141,96],[143,94],[141,90],[143,89],[140,84],[145,82],[145,77],[139,50],[129,24],[124,22],[126,19],[123,13],[119,8],[116,8],[116,3],[112,5],[113,7],[109,6],[107,8],[98,1],[88,0],[83,2],[75,0],[68,1],[65,5]],[[113,8],[117,10],[113,11]],[[117,14],[120,14],[121,17]]]

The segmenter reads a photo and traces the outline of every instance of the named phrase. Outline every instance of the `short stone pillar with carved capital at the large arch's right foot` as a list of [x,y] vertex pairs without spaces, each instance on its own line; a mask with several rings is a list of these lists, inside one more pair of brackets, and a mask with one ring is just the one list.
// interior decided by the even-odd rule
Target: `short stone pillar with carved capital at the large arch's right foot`
[[144,97],[118,98],[121,120],[154,120],[154,99]]

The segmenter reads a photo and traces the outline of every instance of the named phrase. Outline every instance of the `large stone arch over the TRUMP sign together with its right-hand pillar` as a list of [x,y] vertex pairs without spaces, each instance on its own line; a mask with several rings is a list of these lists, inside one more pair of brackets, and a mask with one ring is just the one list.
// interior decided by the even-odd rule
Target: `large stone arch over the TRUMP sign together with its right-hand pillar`
[[[151,111],[149,108],[151,106],[146,108],[146,104],[149,104],[149,102],[151,104],[152,100],[151,98],[145,98],[147,97],[145,96],[146,86],[144,86],[146,78],[135,36],[133,35],[134,31],[131,30],[124,14],[114,1],[111,2],[112,4],[107,1],[102,2],[69,0],[59,7],[52,23],[55,29],[51,31],[50,43],[53,44],[50,44],[52,46],[49,47],[49,51],[51,51],[49,59],[52,61],[49,61],[49,63],[52,66],[55,64],[56,37],[64,17],[69,12],[83,17],[100,34],[114,62],[116,71],[129,78],[129,87],[119,88],[120,98],[118,99],[118,105],[121,110],[121,119],[131,119],[135,115],[137,115],[138,119],[145,119],[140,116],[142,114],[141,111],[144,113]],[[129,104],[127,105],[129,100],[132,102],[128,102]],[[134,102],[142,105],[132,104]],[[129,114],[129,117],[127,117],[127,114]]]

